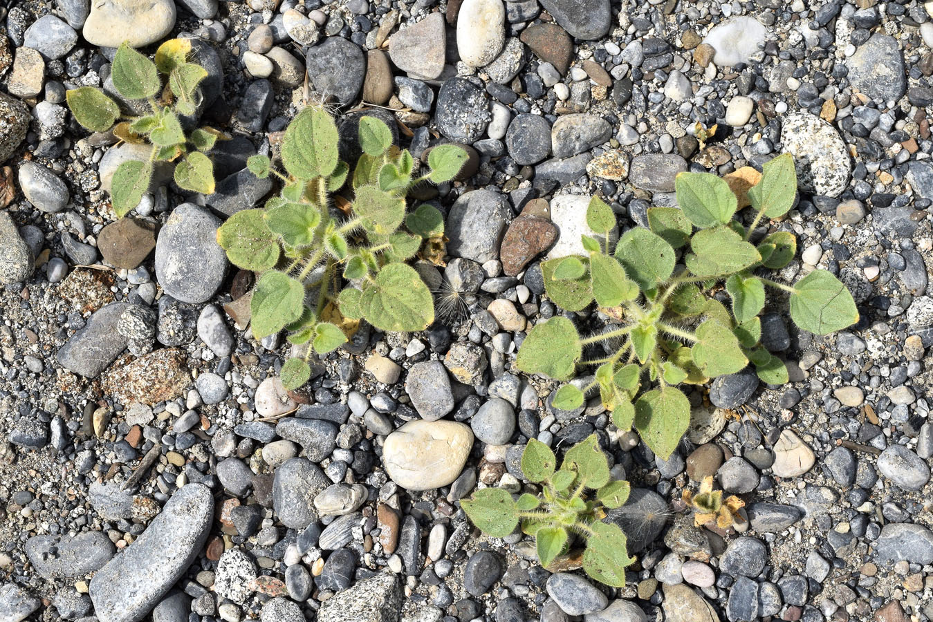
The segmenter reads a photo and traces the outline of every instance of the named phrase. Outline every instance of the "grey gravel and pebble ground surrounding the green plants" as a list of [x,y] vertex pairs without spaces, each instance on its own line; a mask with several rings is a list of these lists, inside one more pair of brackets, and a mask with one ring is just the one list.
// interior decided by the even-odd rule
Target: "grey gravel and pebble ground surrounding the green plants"
[[[6,5],[0,622],[933,618],[933,3]],[[202,122],[231,137],[218,190],[154,184],[117,220],[110,178],[133,147],[82,130],[64,91],[111,89],[124,39],[152,52],[173,36],[208,69]],[[274,153],[310,101],[344,136],[366,111],[416,158],[453,141],[471,160],[417,198],[448,216],[447,256],[416,265],[438,322],[363,326],[289,394],[289,346],[252,338],[254,277],[214,231],[270,193],[245,159]],[[557,383],[524,377],[515,352],[563,312],[539,261],[574,252],[588,198],[624,231],[675,205],[680,171],[746,177],[784,152],[800,201],[768,227],[799,254],[775,278],[838,274],[859,322],[816,337],[773,297],[765,345],[790,383],[697,389],[667,461],[598,400],[551,408]],[[533,542],[482,536],[458,505],[522,491],[529,438],[594,431],[634,487],[613,514],[638,558],[620,589],[572,556],[542,569]],[[742,498],[745,524],[693,526],[681,493],[704,476]]]

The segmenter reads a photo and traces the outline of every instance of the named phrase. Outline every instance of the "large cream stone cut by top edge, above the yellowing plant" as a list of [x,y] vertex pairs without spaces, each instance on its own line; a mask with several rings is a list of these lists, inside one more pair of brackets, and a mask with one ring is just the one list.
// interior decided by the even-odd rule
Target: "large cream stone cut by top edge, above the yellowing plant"
[[172,32],[174,23],[172,0],[95,0],[81,35],[102,48],[118,48],[124,41],[145,48]]

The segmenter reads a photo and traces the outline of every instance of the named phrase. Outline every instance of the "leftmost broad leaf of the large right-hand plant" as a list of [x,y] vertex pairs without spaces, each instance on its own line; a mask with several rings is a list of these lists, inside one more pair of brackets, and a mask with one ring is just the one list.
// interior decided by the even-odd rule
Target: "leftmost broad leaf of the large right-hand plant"
[[516,365],[527,374],[567,380],[573,377],[582,355],[577,329],[567,318],[556,316],[531,329],[519,349]]

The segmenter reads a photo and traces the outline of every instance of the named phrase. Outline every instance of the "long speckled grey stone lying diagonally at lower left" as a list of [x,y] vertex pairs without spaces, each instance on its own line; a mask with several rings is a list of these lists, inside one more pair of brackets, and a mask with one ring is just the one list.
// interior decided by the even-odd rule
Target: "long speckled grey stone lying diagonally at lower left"
[[100,622],[139,622],[174,586],[204,546],[214,497],[203,484],[175,492],[141,536],[91,579]]

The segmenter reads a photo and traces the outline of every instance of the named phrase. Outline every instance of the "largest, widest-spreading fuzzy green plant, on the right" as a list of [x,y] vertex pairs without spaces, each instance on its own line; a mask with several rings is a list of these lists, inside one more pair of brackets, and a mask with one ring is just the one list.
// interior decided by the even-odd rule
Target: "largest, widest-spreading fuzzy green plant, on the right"
[[[736,197],[717,176],[680,173],[675,189],[680,209],[649,209],[649,228],[626,231],[614,256],[606,241],[615,214],[592,199],[587,223],[605,240],[584,235],[589,256],[544,262],[545,290],[567,311],[582,311],[595,300],[617,311],[620,324],[584,338],[566,317],[550,318],[529,332],[517,360],[522,371],[555,380],[573,378],[578,366],[596,366],[591,382],[561,387],[554,407],[578,408],[598,387],[620,430],[634,426],[664,459],[689,425],[689,401],[678,384],[703,384],[749,361],[768,384],[787,382],[784,363],[760,345],[766,285],[789,295],[790,317],[803,330],[823,335],[858,320],[852,295],[826,270],[793,285],[759,275],[783,268],[797,251],[797,239],[787,231],[749,242],[761,218],[779,217],[793,206],[797,175],[789,155],[765,164],[759,184],[748,191],[757,214],[747,229],[733,219]],[[684,249],[682,257],[678,249]],[[731,310],[715,296],[723,282]],[[581,360],[586,346],[600,342],[608,356]]]

